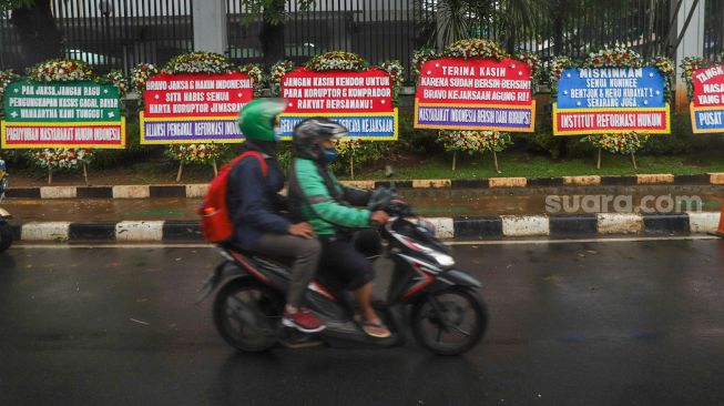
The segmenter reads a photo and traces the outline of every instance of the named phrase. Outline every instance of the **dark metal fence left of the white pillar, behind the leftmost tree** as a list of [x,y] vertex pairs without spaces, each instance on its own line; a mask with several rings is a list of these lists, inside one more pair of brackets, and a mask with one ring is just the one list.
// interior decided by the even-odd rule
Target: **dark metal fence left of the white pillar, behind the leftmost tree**
[[[193,50],[191,0],[52,0],[62,57],[98,72],[163,63]],[[0,19],[0,65],[22,71],[20,41],[9,17]]]

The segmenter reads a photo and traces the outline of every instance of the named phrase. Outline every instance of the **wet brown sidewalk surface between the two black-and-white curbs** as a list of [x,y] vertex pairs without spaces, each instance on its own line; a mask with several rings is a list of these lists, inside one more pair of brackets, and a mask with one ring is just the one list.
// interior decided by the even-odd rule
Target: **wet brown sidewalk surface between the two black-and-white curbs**
[[[631,196],[633,207],[642,204],[649,195],[671,194],[698,196],[703,211],[718,212],[724,196],[724,186],[585,186],[585,187],[538,187],[538,189],[399,189],[416,212],[424,216],[496,216],[496,215],[545,215],[548,196],[624,195]],[[151,199],[8,199],[2,203],[16,222],[64,221],[119,222],[119,221],[196,221],[196,209],[201,197],[151,197]],[[570,205],[569,205],[570,207]],[[682,207],[692,210],[696,207]],[[610,210],[610,209],[609,209]],[[605,210],[604,210],[605,211]],[[584,214],[579,205],[574,212]]]

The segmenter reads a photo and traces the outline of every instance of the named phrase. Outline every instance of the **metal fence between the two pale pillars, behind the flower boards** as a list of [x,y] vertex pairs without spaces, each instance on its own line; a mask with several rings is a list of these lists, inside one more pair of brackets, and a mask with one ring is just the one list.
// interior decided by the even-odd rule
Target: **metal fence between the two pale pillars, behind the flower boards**
[[[226,0],[230,55],[236,62],[262,59],[261,16],[251,16],[241,0]],[[713,0],[708,0],[711,2]],[[722,0],[715,0],[722,1]],[[482,2],[481,2],[482,3]],[[471,35],[509,42],[504,2],[489,1],[485,12],[468,13]],[[558,0],[533,2],[530,19],[518,28],[516,49],[543,59],[554,54],[579,58],[616,43],[657,54],[666,49],[670,0]],[[308,11],[287,0],[285,53],[302,62],[329,50],[359,53],[371,63],[398,59],[409,69],[415,49],[435,45],[438,0],[317,0]],[[720,20],[721,21],[721,20]],[[409,73],[409,71],[408,71]],[[409,75],[408,75],[409,77]]]

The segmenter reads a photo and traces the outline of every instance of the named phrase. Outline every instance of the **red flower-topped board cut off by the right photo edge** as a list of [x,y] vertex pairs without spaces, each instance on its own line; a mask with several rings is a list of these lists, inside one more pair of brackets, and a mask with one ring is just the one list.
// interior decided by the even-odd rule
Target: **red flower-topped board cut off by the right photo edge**
[[687,58],[682,75],[689,85],[694,133],[724,133],[724,53],[712,60]]

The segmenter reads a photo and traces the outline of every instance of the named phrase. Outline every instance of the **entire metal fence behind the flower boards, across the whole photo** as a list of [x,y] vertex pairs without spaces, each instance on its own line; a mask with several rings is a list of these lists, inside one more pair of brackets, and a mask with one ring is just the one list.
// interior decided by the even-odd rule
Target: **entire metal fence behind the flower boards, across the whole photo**
[[[100,72],[128,72],[139,62],[163,63],[193,49],[192,1],[208,0],[52,0],[52,7],[64,57],[88,61]],[[259,62],[261,14],[245,9],[242,0],[225,1],[228,55],[237,63]],[[520,13],[503,9],[508,2],[480,3],[488,6],[468,12],[470,34],[512,43],[543,59],[580,58],[616,43],[661,54],[675,42],[669,27],[676,0],[534,1],[524,24],[510,23]],[[285,58],[300,63],[325,51],[346,50],[371,63],[397,59],[409,78],[411,53],[436,43],[439,7],[439,0],[317,0],[300,10],[297,0],[286,0]],[[705,10],[704,50],[711,55],[724,51],[724,0],[706,0]],[[8,17],[0,17],[0,68],[22,71],[20,41]],[[511,34],[507,27],[518,28]]]

